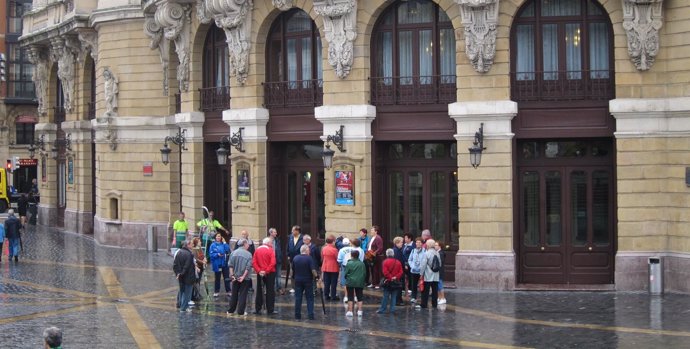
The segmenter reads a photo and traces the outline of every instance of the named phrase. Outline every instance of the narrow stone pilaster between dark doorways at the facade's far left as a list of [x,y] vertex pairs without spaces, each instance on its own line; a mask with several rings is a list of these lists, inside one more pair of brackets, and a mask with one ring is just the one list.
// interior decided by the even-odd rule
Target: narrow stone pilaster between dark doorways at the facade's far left
[[62,130],[70,135],[72,151],[67,153],[67,171],[72,162],[72,177],[66,181],[67,207],[65,209],[65,230],[79,234],[93,234],[91,212],[91,190],[95,178],[91,175],[91,122],[66,121]]

